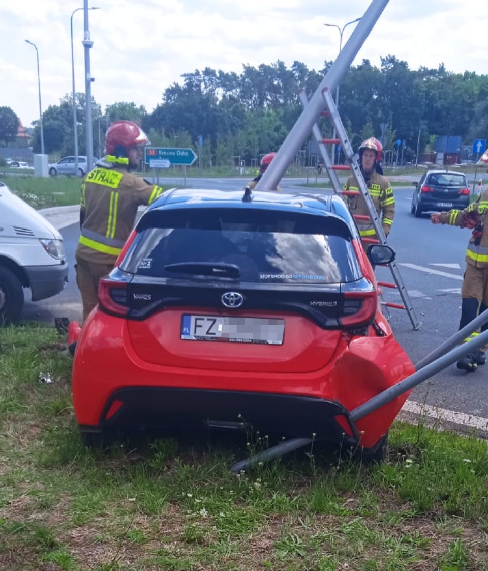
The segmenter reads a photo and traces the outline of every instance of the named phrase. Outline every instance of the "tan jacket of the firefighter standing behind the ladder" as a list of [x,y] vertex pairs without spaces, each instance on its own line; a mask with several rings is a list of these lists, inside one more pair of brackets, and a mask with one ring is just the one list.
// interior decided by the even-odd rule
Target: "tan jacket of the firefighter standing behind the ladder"
[[[371,196],[371,200],[375,205],[376,212],[380,217],[383,231],[385,235],[388,236],[393,224],[393,218],[395,218],[395,196],[393,196],[393,189],[388,179],[376,171],[371,173],[369,180],[365,179],[365,183],[368,188],[369,196]],[[357,196],[348,195],[344,197],[352,215],[371,216],[366,202],[360,193],[359,184],[357,183],[355,175],[349,176],[344,184],[344,190],[357,192]],[[361,238],[377,239],[375,227],[371,219],[369,221],[356,220],[356,223]]]

